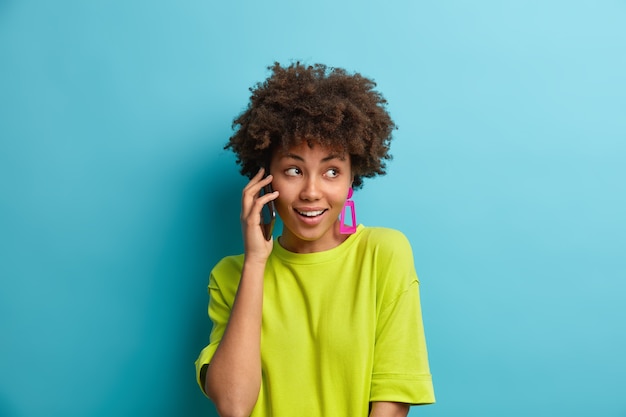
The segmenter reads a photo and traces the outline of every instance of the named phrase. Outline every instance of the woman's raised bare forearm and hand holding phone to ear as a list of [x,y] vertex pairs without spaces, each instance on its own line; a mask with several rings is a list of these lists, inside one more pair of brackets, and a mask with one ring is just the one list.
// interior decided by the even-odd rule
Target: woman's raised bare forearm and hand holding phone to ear
[[259,196],[271,175],[263,170],[243,190],[241,224],[244,264],[228,324],[206,371],[204,389],[223,417],[249,416],[261,387],[261,313],[263,276],[272,240],[261,231],[261,209],[278,193]]

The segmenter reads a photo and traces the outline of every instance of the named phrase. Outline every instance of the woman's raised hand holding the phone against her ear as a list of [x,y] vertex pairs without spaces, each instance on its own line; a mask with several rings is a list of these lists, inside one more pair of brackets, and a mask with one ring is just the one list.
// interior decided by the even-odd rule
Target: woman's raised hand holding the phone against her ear
[[265,262],[272,253],[273,239],[265,240],[261,229],[261,210],[264,204],[278,197],[278,191],[260,196],[260,191],[272,182],[272,175],[263,178],[265,169],[250,180],[241,198],[241,229],[245,256],[249,260]]

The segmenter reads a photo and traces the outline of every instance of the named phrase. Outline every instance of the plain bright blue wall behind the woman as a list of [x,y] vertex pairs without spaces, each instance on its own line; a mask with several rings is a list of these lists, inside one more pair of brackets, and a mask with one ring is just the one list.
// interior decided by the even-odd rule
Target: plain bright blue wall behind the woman
[[[0,416],[203,416],[222,150],[275,60],[373,77],[438,403],[626,416],[626,3],[0,0]],[[304,394],[304,393],[303,393]],[[296,414],[294,414],[296,415]]]

